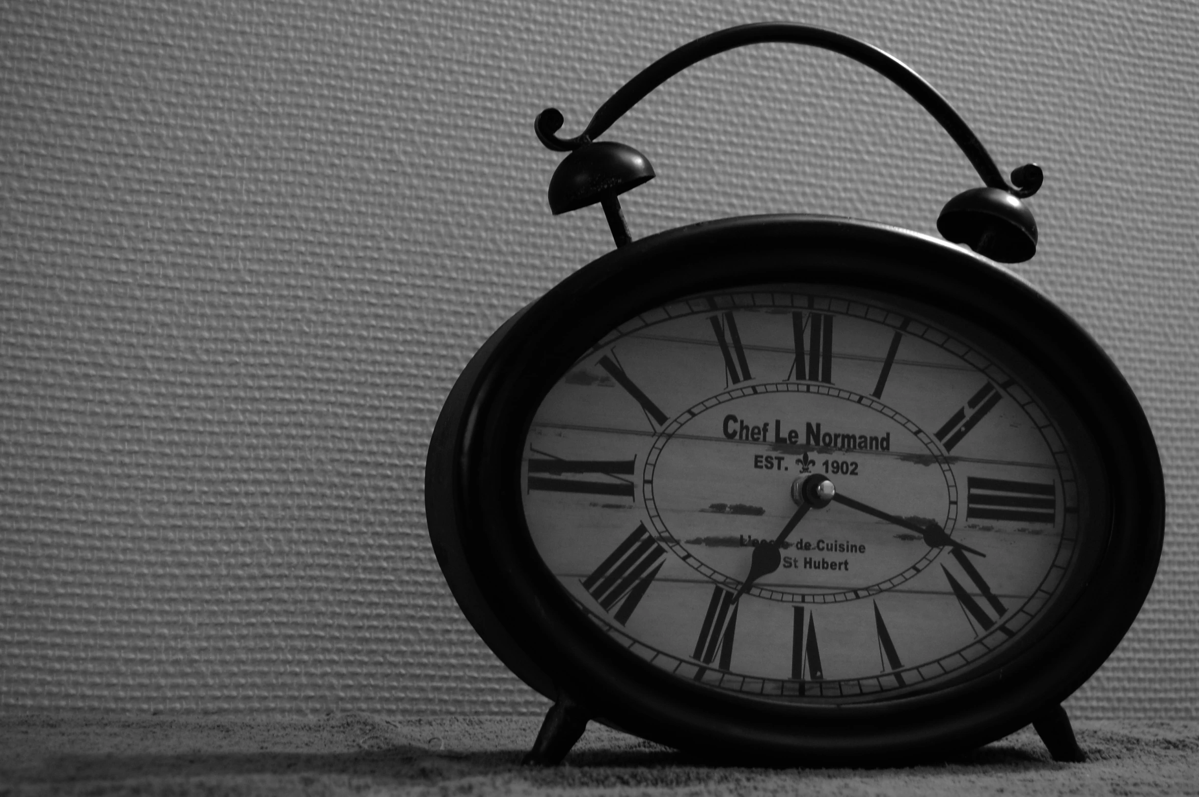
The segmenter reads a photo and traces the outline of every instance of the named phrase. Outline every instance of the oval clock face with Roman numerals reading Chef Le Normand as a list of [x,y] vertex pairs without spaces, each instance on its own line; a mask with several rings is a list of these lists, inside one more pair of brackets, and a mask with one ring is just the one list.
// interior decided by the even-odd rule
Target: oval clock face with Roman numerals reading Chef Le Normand
[[542,561],[616,644],[836,702],[971,677],[1043,633],[1108,523],[1098,461],[969,321],[763,285],[603,337],[541,401],[522,487]]

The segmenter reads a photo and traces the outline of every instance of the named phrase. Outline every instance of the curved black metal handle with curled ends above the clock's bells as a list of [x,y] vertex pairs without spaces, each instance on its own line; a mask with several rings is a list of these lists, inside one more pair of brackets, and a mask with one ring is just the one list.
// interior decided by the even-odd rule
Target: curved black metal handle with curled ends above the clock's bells
[[737,47],[766,42],[811,44],[812,47],[840,53],[864,64],[888,78],[923,105],[924,110],[932,114],[933,119],[940,122],[941,127],[953,138],[987,186],[1000,188],[1017,198],[1031,197],[1041,188],[1043,174],[1041,167],[1035,163],[1025,164],[1012,171],[1012,182],[1016,185],[1010,186],[1004,180],[999,167],[995,165],[987,149],[978,140],[978,137],[974,134],[965,121],[953,110],[953,107],[950,105],[936,89],[916,74],[906,64],[866,42],[809,25],[755,23],[709,34],[662,56],[621,86],[608,102],[600,107],[600,110],[591,117],[591,122],[586,129],[579,135],[562,139],[555,134],[561,129],[564,121],[561,111],[556,108],[547,108],[537,114],[534,129],[537,132],[537,138],[541,143],[550,150],[559,152],[577,150],[611,127],[617,119],[623,116],[647,93],[688,66]]

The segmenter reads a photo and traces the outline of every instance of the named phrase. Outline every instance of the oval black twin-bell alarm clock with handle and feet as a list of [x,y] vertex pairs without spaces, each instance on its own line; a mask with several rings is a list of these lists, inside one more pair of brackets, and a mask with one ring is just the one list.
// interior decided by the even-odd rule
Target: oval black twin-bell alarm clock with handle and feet
[[[767,41],[862,61],[933,113],[986,183],[946,205],[948,242],[820,216],[631,240],[616,195],[652,168],[594,139]],[[463,612],[554,702],[526,761],[560,761],[591,719],[771,765],[910,763],[1032,723],[1081,760],[1061,702],[1149,592],[1164,488],[1119,370],[995,262],[1035,252],[1041,170],[1007,185],[911,70],[788,24],[697,40],[584,134],[561,123],[536,123],[570,152],[550,207],[601,204],[616,249],[475,355],[426,476]]]

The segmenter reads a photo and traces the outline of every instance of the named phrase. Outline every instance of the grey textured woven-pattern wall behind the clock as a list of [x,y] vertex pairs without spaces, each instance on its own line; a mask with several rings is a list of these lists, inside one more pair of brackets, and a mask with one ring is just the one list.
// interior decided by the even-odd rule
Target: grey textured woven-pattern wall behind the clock
[[[424,529],[441,401],[505,318],[611,247],[553,218],[574,134],[651,60],[785,19],[914,66],[1006,170],[1020,266],[1157,434],[1165,554],[1081,716],[1199,707],[1199,298],[1189,0],[0,7],[0,706],[537,711]],[[704,62],[608,138],[634,235],[812,211],[935,234],[978,185],[914,102],[788,46]]]

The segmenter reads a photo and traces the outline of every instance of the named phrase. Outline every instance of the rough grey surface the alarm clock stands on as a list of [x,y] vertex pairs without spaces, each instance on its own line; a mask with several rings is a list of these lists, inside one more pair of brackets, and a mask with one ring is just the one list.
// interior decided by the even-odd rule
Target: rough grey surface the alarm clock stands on
[[604,727],[526,768],[536,718],[0,717],[0,795],[1199,795],[1199,723],[1077,721],[1085,763],[1031,729],[888,769],[711,767]]

